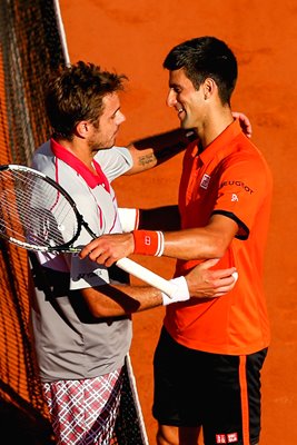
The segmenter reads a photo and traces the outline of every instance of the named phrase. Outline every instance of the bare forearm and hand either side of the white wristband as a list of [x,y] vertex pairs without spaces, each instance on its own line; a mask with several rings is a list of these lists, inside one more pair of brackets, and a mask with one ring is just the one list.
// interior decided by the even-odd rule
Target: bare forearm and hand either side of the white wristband
[[[201,263],[186,276],[191,298],[197,301],[221,297],[235,286],[231,274],[236,269],[210,270],[216,263],[214,259]],[[105,285],[82,289],[81,294],[90,313],[98,318],[130,315],[162,305],[160,290],[148,286]]]

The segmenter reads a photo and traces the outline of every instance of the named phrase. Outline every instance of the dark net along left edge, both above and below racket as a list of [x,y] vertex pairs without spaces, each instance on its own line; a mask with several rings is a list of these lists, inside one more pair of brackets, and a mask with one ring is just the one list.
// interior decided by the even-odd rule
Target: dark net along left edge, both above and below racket
[[[63,62],[52,0],[0,2],[0,164],[30,162],[49,137],[43,85]],[[29,324],[27,253],[0,240],[0,425],[10,443],[50,444]]]

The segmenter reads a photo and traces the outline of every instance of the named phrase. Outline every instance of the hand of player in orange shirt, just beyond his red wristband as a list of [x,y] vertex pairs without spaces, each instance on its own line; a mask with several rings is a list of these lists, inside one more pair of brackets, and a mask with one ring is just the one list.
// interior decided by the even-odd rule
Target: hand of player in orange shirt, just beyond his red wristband
[[132,234],[102,235],[87,244],[80,251],[81,259],[89,256],[92,261],[112,266],[118,259],[128,257],[133,253],[135,240]]

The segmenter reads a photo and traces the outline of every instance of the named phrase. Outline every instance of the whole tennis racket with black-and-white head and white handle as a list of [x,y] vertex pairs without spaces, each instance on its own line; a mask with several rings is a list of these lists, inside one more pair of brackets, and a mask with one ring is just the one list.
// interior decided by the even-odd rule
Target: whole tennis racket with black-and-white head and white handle
[[[82,227],[90,229],[70,195],[44,174],[27,166],[0,166],[0,236],[19,247],[43,253],[76,254]],[[129,258],[117,266],[169,297],[176,285]]]

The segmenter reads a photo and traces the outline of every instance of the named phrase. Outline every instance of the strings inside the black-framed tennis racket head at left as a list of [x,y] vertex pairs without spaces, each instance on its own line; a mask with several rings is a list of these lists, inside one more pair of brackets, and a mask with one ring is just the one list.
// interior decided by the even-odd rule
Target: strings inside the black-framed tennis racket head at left
[[70,243],[78,231],[68,199],[31,171],[1,171],[0,198],[0,231],[7,239],[52,248]]

